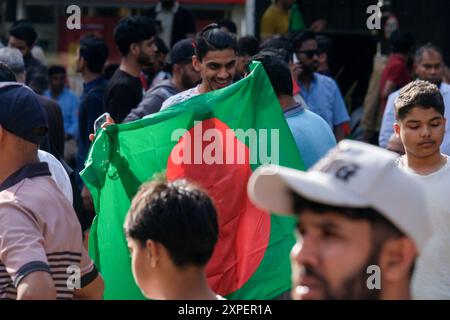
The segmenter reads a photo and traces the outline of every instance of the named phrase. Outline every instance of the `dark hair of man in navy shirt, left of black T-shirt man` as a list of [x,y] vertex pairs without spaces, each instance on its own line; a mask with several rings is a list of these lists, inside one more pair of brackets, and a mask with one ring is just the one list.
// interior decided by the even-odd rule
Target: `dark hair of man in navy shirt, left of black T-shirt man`
[[86,61],[91,72],[101,73],[108,59],[108,46],[105,40],[94,35],[88,35],[80,40],[80,57]]

